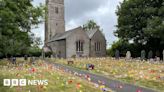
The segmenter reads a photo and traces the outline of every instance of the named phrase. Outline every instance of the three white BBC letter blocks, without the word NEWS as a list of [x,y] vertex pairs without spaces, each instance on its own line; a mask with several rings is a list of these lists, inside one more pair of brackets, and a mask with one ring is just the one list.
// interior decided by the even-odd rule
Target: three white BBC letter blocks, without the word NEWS
[[4,86],[26,86],[26,79],[3,79]]

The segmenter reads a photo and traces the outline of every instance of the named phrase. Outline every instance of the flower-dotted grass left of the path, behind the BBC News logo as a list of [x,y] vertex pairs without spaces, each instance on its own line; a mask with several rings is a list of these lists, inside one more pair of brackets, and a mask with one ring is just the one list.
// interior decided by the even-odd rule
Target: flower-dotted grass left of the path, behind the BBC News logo
[[[82,80],[37,60],[35,65],[18,59],[19,66],[8,64],[7,60],[0,60],[0,92],[102,92],[95,84]],[[48,80],[47,86],[4,87],[3,79]],[[111,91],[110,91],[111,92]]]

